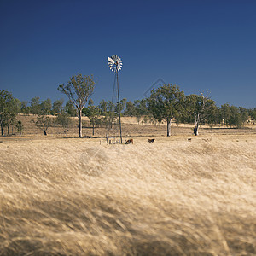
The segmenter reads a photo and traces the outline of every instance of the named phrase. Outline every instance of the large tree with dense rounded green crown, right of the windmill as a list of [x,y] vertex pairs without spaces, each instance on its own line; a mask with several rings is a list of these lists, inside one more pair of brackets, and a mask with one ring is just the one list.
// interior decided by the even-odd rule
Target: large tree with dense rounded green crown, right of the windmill
[[167,137],[171,136],[172,119],[183,113],[184,93],[177,85],[163,84],[151,90],[148,97],[148,109],[159,122],[166,120]]

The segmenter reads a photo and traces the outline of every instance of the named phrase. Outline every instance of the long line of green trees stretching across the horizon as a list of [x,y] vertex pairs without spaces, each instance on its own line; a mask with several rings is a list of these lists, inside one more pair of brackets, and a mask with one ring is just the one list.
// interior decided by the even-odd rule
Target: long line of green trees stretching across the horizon
[[55,122],[67,131],[72,120],[70,117],[79,117],[79,137],[82,137],[82,116],[90,119],[93,128],[112,125],[119,114],[121,116],[136,117],[138,124],[151,123],[154,125],[167,123],[167,136],[171,135],[171,124],[177,123],[194,124],[194,134],[198,135],[199,125],[226,125],[241,128],[248,120],[256,120],[256,108],[236,107],[230,104],[221,105],[220,108],[211,97],[203,92],[198,95],[185,95],[177,85],[163,84],[150,92],[148,98],[127,101],[126,98],[119,103],[102,100],[96,106],[90,96],[93,94],[95,80],[92,76],[73,76],[67,84],[58,87],[68,98],[51,102],[50,98],[41,101],[38,96],[33,97],[30,102],[20,102],[15,99],[11,92],[0,90],[0,125],[3,136],[3,128],[14,126],[20,133],[23,125],[17,120],[17,114],[35,114],[37,119],[35,125],[42,128],[44,134],[51,125],[50,116],[56,116]]

